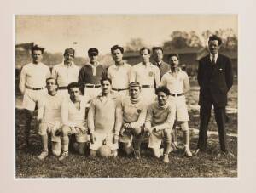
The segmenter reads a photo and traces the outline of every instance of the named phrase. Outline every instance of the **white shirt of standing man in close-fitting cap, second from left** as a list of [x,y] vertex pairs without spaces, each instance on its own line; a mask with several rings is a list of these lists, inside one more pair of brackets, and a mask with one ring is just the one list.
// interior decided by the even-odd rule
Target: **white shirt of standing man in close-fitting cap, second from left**
[[60,87],[67,87],[71,82],[78,82],[79,70],[79,66],[74,65],[73,62],[70,66],[62,62],[53,67],[52,76],[55,77]]

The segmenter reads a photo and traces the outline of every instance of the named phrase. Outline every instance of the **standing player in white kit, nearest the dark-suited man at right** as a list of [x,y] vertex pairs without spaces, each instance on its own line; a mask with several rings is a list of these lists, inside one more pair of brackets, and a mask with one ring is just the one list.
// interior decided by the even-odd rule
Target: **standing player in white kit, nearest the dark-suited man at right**
[[175,106],[177,122],[181,122],[185,145],[184,153],[186,156],[192,156],[192,153],[189,150],[189,113],[184,95],[189,91],[190,88],[189,77],[185,71],[182,71],[181,68],[178,67],[178,63],[178,54],[171,54],[171,70],[162,77],[161,85],[169,89],[169,101]]

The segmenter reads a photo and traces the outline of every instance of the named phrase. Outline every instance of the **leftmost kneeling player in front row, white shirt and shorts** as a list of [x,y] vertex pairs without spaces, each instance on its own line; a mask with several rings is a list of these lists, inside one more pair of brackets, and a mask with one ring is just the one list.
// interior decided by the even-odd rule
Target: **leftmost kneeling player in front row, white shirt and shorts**
[[58,84],[54,77],[46,79],[46,88],[48,94],[38,100],[38,133],[43,144],[43,151],[38,156],[39,160],[44,160],[48,156],[48,133],[51,134],[53,155],[61,155],[61,139],[60,136],[55,136],[55,133],[60,131],[62,126],[61,104],[64,97],[59,94]]

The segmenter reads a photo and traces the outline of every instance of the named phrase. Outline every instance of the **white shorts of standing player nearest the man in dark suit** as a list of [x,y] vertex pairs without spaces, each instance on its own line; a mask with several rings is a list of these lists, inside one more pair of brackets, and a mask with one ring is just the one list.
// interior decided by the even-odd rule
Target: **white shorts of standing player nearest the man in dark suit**
[[176,115],[178,122],[188,122],[189,113],[186,104],[185,96],[169,96],[169,102],[176,107]]

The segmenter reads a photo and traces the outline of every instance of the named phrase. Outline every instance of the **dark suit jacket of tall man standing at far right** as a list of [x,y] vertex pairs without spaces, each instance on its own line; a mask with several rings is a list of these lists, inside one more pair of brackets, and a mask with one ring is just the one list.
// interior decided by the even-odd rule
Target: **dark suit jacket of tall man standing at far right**
[[212,65],[210,55],[199,60],[198,84],[200,86],[199,105],[204,101],[223,107],[227,105],[227,93],[233,84],[233,73],[230,59],[218,54],[215,65]]

